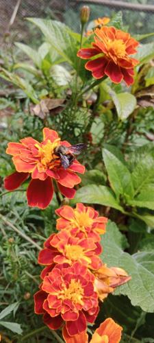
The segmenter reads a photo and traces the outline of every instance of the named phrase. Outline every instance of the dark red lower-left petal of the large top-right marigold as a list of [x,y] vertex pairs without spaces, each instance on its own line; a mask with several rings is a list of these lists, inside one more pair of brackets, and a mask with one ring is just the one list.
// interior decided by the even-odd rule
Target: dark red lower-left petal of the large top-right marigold
[[85,65],[85,68],[92,71],[92,76],[94,76],[94,78],[101,79],[105,75],[106,65],[107,59],[100,57],[96,60],[88,61]]

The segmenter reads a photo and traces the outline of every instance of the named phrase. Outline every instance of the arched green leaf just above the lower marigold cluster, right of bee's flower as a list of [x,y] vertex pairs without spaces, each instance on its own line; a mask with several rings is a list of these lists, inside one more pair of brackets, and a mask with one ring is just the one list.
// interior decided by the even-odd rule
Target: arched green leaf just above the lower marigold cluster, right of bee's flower
[[110,206],[123,212],[123,207],[118,204],[112,190],[109,187],[101,185],[88,185],[81,187],[77,191],[75,198],[71,200],[72,204],[76,204],[76,202]]

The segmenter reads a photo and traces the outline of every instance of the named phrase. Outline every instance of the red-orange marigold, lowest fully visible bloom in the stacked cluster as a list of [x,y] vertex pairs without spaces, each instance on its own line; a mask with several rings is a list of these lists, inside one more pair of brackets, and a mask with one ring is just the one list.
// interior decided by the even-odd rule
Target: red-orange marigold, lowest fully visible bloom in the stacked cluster
[[86,331],[99,311],[93,283],[94,275],[81,263],[56,265],[34,294],[35,313],[44,314],[50,329],[59,329],[65,321],[70,336]]

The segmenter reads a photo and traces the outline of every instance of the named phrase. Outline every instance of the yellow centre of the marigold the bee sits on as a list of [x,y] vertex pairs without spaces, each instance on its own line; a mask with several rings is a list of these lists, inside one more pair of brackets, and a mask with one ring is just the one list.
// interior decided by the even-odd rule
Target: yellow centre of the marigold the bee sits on
[[[46,144],[35,146],[38,148],[38,156],[40,157],[40,163],[41,165],[46,168],[47,166],[52,169],[52,167],[55,165],[55,161],[57,161],[55,158],[57,156],[54,154],[55,147],[60,145],[60,138],[55,139],[53,143],[51,141],[47,141]],[[52,163],[53,162],[53,163]]]

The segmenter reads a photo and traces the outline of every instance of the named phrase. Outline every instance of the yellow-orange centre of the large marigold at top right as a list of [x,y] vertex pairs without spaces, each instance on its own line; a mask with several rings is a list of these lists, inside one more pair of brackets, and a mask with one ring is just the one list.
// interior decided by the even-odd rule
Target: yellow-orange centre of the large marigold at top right
[[117,58],[125,57],[126,45],[122,39],[107,40],[107,50]]

